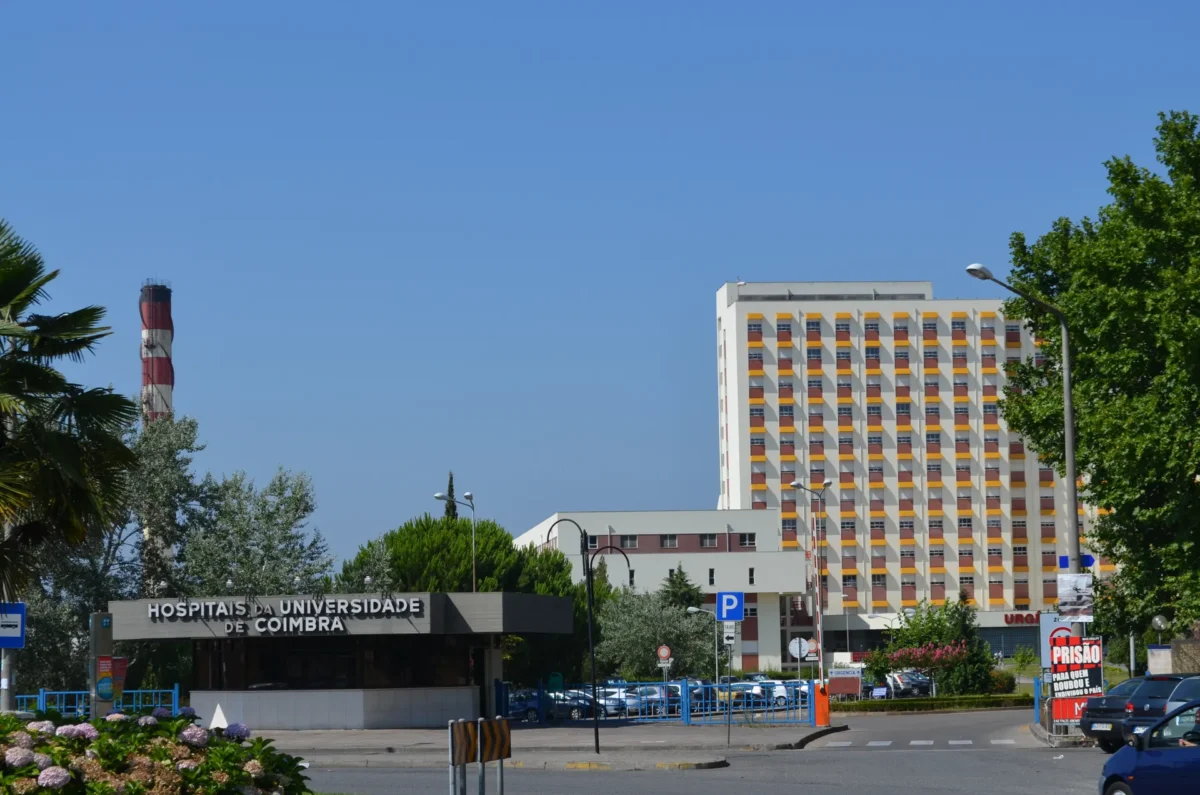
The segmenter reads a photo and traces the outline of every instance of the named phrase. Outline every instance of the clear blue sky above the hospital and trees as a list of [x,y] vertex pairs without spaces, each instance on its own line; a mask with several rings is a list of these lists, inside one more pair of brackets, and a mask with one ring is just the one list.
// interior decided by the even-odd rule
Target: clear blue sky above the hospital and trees
[[109,307],[91,383],[173,283],[200,466],[312,473],[338,555],[450,468],[515,532],[708,508],[716,288],[992,294],[1200,109],[1153,5],[11,4],[0,215]]

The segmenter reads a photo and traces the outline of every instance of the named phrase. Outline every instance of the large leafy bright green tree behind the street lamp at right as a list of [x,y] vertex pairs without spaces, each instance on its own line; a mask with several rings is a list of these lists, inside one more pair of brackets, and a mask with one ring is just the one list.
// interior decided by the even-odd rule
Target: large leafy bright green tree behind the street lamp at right
[[[1080,496],[1108,509],[1088,545],[1120,570],[1100,588],[1097,632],[1141,633],[1156,612],[1200,620],[1200,137],[1190,113],[1159,114],[1163,173],[1114,157],[1112,202],[1058,219],[1032,245],[1012,237],[1013,283],[1057,305],[1070,328]],[[1045,364],[1010,367],[1010,430],[1062,472],[1061,335],[1025,300]]]

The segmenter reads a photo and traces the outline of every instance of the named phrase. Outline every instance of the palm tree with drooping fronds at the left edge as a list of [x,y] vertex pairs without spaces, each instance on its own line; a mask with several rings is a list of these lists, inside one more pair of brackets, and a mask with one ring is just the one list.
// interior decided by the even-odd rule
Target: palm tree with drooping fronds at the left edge
[[34,549],[78,543],[119,519],[133,454],[122,431],[128,399],[71,383],[55,364],[82,361],[108,336],[104,310],[34,310],[59,271],[0,220],[0,588],[10,598],[34,575]]

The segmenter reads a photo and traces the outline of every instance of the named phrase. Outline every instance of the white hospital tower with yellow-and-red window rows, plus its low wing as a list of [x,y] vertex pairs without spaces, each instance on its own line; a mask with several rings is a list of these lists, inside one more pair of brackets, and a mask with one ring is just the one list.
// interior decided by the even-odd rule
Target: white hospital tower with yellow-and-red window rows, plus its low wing
[[[1086,536],[1088,515],[998,414],[1006,363],[1040,355],[1001,301],[935,299],[930,282],[726,283],[715,354],[716,510],[559,513],[518,540],[574,518],[594,549],[629,554],[635,588],[682,564],[709,598],[746,592],[743,670],[797,667],[787,644],[812,636],[818,579],[827,652],[870,648],[905,608],[959,592],[994,648],[1037,646],[1032,614],[1056,604],[1067,528]],[[826,482],[823,500],[792,485]],[[551,534],[568,531],[578,563],[571,527]]]

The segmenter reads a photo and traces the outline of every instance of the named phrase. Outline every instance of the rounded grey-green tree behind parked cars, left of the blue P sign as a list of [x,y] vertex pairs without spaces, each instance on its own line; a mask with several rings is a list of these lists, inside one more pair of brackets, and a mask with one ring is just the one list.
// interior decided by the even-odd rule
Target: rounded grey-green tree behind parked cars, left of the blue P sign
[[599,614],[604,639],[596,658],[631,681],[661,679],[655,650],[666,644],[672,676],[704,676],[713,669],[712,617],[667,603],[662,591],[619,591]]

